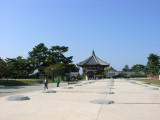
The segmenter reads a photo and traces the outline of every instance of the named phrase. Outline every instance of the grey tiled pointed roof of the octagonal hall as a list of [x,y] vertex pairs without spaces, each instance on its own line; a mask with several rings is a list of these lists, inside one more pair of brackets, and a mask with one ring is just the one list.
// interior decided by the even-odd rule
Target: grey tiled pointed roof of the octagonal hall
[[103,60],[99,59],[94,51],[92,53],[92,56],[90,56],[88,59],[80,62],[77,64],[78,66],[83,66],[83,65],[101,65],[101,66],[109,66],[108,63],[104,62]]

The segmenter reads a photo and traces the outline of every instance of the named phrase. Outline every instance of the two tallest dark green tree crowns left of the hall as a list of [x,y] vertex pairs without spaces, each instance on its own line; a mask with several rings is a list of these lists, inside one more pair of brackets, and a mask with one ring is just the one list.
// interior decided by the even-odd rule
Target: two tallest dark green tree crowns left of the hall
[[64,53],[68,51],[65,46],[52,46],[48,49],[43,43],[35,46],[29,52],[29,59],[32,61],[38,73],[44,73],[47,66],[55,65],[56,63],[69,64],[72,62],[72,56],[65,57]]

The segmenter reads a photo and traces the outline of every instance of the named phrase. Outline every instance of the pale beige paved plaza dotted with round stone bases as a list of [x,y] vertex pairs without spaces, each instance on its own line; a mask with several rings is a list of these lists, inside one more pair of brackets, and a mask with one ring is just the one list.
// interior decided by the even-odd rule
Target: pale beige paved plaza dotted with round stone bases
[[[19,94],[30,98],[26,101],[8,101],[9,96],[3,96],[0,120],[159,120],[160,88],[153,88],[158,87],[124,79],[112,84],[103,79],[50,89],[56,93]],[[96,100],[114,103],[97,104]]]

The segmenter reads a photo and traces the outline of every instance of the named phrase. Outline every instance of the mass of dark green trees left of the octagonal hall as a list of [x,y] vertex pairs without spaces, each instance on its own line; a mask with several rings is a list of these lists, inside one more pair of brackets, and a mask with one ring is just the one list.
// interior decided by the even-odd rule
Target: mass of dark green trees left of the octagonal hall
[[[48,73],[50,67],[53,66],[54,74],[79,71],[75,64],[71,64],[73,56],[66,57],[64,55],[68,49],[66,46],[47,48],[44,43],[40,43],[28,52],[26,59],[22,56],[0,59],[0,77],[7,75],[10,78],[26,78],[35,74],[35,71],[38,71],[36,75]],[[59,71],[60,67],[64,69]]]

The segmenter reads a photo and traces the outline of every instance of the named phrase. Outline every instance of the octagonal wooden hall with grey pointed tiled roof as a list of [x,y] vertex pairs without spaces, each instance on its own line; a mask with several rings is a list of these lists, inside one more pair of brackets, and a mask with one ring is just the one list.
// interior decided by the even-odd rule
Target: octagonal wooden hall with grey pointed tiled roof
[[95,79],[96,75],[104,75],[104,68],[109,67],[109,64],[99,59],[93,51],[92,56],[78,63],[77,66],[82,67],[85,77]]

